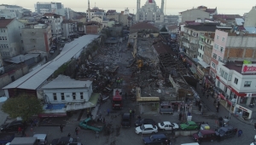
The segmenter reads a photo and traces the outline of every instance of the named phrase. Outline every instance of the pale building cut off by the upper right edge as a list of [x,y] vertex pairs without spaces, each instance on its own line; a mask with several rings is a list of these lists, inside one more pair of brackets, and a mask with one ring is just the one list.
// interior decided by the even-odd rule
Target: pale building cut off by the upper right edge
[[245,16],[245,21],[243,26],[250,26],[250,27],[256,27],[256,6],[253,6],[253,8],[249,11],[249,13]]

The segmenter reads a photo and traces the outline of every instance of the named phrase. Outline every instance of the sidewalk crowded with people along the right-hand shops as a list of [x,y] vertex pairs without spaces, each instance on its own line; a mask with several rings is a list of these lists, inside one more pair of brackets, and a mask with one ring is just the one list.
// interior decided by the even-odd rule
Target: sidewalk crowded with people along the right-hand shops
[[245,123],[247,125],[254,125],[253,119],[245,120],[245,119],[242,119],[241,117],[234,116],[233,113],[230,113],[230,107],[224,107],[224,102],[222,101],[220,101],[219,112],[216,113],[216,107],[213,105],[214,99],[212,98],[212,96],[209,96],[207,98],[207,93],[205,94],[205,96],[203,96],[201,92],[201,88],[202,86],[200,84],[197,84],[196,91],[198,95],[201,96],[201,102],[207,105],[208,109],[211,110],[212,112],[215,112],[217,116],[224,117],[224,116],[229,116],[230,114],[230,119],[237,119],[240,122]]

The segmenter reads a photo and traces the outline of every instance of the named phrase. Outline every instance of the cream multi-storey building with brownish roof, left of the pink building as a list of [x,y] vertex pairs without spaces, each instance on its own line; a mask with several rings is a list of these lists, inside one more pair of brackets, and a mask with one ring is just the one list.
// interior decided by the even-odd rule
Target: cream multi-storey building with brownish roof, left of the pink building
[[198,48],[199,48],[199,35],[200,34],[210,34],[214,33],[216,23],[205,23],[199,25],[188,25],[184,26],[182,49],[186,52],[187,55],[191,58],[197,58]]

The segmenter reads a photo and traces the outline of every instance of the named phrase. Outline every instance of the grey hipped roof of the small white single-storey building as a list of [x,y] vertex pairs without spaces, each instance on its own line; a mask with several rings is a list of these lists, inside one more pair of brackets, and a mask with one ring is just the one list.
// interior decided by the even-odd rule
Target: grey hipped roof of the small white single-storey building
[[80,81],[68,76],[59,75],[48,84],[44,84],[42,89],[86,88],[89,87],[91,83],[92,81]]

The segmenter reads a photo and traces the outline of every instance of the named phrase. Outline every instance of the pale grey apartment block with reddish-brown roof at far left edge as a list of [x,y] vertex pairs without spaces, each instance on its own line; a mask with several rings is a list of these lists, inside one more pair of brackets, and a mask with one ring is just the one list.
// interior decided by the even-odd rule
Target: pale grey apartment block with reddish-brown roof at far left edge
[[0,19],[0,52],[3,59],[20,55],[21,29],[24,24],[16,19]]

